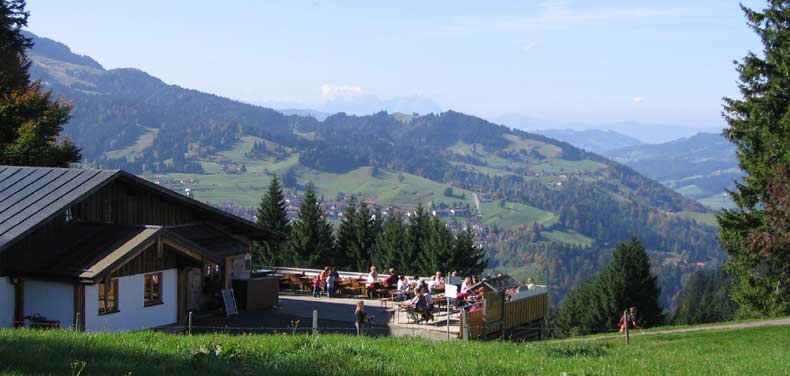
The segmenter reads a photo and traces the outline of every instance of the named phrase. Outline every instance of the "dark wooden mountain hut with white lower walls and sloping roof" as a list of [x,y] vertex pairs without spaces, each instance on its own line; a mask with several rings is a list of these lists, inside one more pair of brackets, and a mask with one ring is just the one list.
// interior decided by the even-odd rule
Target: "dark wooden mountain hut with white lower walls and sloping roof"
[[123,171],[0,166],[0,327],[183,322],[271,236]]

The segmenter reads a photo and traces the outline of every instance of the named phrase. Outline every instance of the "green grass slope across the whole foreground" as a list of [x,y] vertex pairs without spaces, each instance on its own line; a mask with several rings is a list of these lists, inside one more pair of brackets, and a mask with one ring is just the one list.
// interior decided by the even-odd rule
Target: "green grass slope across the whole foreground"
[[[790,327],[578,342],[0,330],[10,375],[787,375]],[[82,363],[84,362],[84,363]]]

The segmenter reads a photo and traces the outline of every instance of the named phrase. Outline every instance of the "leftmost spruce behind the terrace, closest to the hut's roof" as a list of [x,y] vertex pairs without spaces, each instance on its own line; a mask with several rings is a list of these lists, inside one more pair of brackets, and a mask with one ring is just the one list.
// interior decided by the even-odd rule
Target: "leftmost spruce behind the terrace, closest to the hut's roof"
[[285,250],[285,243],[288,241],[288,236],[291,233],[291,224],[288,220],[285,196],[283,195],[282,188],[280,187],[280,180],[277,178],[277,175],[272,177],[272,181],[269,183],[269,189],[266,190],[263,198],[261,198],[256,222],[282,235],[282,237],[267,239],[266,241],[256,243],[256,265],[281,265],[285,262],[283,252]]

